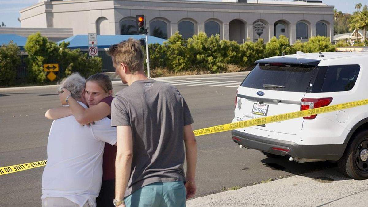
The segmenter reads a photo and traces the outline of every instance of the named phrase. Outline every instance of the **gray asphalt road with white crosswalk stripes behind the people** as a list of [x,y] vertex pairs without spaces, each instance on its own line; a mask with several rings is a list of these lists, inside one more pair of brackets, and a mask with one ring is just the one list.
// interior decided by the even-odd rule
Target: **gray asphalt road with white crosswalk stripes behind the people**
[[[176,84],[190,107],[194,129],[201,129],[231,122],[237,90],[234,86],[245,76],[238,73],[163,78],[166,79],[163,82]],[[114,92],[124,87],[127,86],[114,83]],[[0,166],[47,159],[47,136],[52,121],[44,114],[59,105],[56,87],[0,90]],[[329,162],[300,164],[267,158],[256,150],[239,148],[229,131],[197,137],[197,143],[197,197],[334,166]],[[43,167],[39,167],[0,176],[0,206],[40,206],[42,171]]]

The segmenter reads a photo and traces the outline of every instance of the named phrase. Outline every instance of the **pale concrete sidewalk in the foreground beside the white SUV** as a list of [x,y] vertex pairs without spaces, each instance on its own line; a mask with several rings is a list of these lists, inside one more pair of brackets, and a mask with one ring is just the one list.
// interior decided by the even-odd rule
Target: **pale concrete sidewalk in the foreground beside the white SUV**
[[[198,186],[197,186],[198,187]],[[200,186],[199,186],[200,187]],[[337,168],[305,173],[187,201],[199,206],[367,206],[368,180],[353,180]]]

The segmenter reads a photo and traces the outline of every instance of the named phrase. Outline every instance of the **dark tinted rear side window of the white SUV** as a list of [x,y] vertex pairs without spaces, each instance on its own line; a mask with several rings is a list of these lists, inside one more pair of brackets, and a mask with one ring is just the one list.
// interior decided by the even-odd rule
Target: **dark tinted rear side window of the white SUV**
[[312,88],[307,92],[339,92],[350,91],[357,81],[359,65],[339,65],[318,67]]

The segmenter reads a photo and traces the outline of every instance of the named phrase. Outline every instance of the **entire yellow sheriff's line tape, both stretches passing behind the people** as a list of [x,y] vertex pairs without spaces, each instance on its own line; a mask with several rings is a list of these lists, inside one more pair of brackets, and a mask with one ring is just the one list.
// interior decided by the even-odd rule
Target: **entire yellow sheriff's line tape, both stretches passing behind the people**
[[[217,126],[207,127],[204,129],[197,129],[197,130],[194,130],[193,132],[194,132],[194,135],[198,137],[198,136],[202,136],[206,134],[214,134],[214,133],[219,133],[223,131],[230,131],[233,129],[251,127],[251,126],[268,124],[268,123],[273,123],[273,122],[280,122],[284,120],[300,118],[303,116],[311,116],[311,115],[316,115],[320,113],[328,113],[328,112],[333,112],[337,110],[348,109],[348,108],[353,108],[357,106],[363,106],[367,104],[368,104],[368,99],[364,99],[361,101],[340,103],[340,104],[325,106],[321,108],[308,109],[308,110],[302,110],[302,111],[290,112],[290,113],[283,113],[283,114],[273,115],[273,116],[265,116],[265,117],[261,117],[257,119],[249,119],[249,120],[245,120],[241,122],[221,124]],[[46,160],[43,160],[43,161],[38,161],[38,162],[30,162],[26,164],[0,167],[0,175],[6,175],[9,173],[13,173],[13,172],[19,172],[19,171],[24,171],[27,169],[45,166],[46,162],[47,162]]]

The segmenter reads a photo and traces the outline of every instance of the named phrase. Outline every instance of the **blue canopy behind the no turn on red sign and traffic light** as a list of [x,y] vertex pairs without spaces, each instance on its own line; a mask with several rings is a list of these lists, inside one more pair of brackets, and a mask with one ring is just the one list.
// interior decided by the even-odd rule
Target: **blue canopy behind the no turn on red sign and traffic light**
[[[110,45],[119,43],[121,41],[127,40],[128,38],[133,39],[142,39],[145,38],[145,35],[97,35],[97,45],[98,48],[109,48]],[[157,38],[154,36],[148,36],[148,43],[159,43],[160,45],[163,42],[167,41],[166,39]],[[68,48],[70,49],[88,49],[88,35],[74,35],[70,38],[64,39],[62,41],[57,42],[60,44],[61,42],[69,42],[70,45]]]

